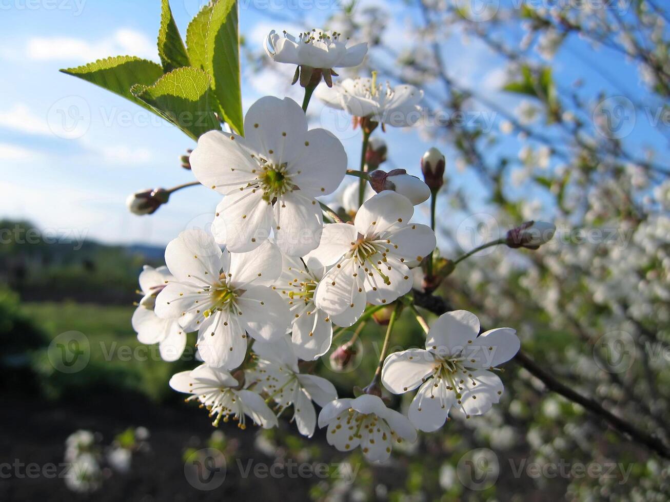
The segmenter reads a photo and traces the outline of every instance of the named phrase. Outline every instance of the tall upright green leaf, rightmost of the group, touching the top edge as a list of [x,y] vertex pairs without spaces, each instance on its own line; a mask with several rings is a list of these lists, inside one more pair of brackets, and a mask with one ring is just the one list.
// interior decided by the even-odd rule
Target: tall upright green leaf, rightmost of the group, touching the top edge
[[243,131],[237,0],[212,4],[206,38],[205,70],[223,118],[239,134]]

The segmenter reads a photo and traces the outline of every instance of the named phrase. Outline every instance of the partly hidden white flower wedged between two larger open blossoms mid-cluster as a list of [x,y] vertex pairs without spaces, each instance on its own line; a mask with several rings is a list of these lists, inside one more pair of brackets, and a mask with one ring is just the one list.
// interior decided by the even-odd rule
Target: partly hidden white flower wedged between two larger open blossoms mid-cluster
[[338,326],[350,326],[355,321],[346,315],[329,316],[314,305],[314,291],[325,270],[318,260],[310,260],[308,265],[309,269],[301,260],[284,255],[275,290],[291,311],[295,354],[304,361],[313,361],[330,349],[333,322]]

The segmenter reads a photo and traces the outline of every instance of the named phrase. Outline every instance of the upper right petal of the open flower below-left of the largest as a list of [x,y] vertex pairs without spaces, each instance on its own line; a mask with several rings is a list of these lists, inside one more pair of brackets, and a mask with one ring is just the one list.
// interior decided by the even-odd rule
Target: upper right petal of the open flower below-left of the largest
[[257,286],[270,286],[281,274],[281,263],[281,251],[269,241],[253,251],[230,253],[230,281],[240,288],[251,282]]

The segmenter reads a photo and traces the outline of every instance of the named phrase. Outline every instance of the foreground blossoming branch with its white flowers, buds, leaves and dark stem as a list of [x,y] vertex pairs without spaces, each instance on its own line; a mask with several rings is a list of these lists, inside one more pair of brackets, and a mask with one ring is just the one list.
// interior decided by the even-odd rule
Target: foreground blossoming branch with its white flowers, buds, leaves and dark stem
[[[433,292],[483,248],[532,252],[552,238],[553,224],[519,222],[491,242],[450,259],[436,248],[435,211],[445,158],[417,153],[423,179],[405,169],[385,172],[387,127],[412,127],[423,91],[394,85],[373,72],[340,78],[368,50],[340,33],[271,31],[262,42],[276,64],[295,66],[293,84],[304,100],[265,96],[242,108],[237,3],[212,1],[194,17],[186,41],[162,1],[160,64],[118,56],[63,70],[143,106],[197,142],[183,158],[192,183],[131,195],[130,210],[153,214],[176,191],[200,186],[222,198],[211,232],[186,230],[165,250],[165,266],[145,266],[133,327],[142,343],[159,345],[166,361],[180,358],[187,333],[197,333],[202,364],[177,373],[170,386],[221,420],[277,426],[284,410],[300,434],[326,428],[338,450],[360,448],[385,461],[393,444],[414,442],[417,430],[448,427],[454,414],[474,418],[500,401],[500,366],[517,361],[548,390],[602,418],[609,426],[666,458],[649,434],[555,380],[520,351],[513,327],[482,329],[474,313],[452,309]],[[330,131],[310,129],[312,98],[344,110],[360,129],[360,161],[348,159]],[[349,181],[346,181],[349,180]],[[320,198],[342,187],[344,210]],[[430,200],[431,226],[413,220]],[[438,315],[427,325],[421,310]],[[343,329],[356,335],[373,315],[389,320],[376,370],[348,396],[315,375]],[[401,312],[425,331],[425,348],[389,353]],[[346,363],[347,348],[336,356]],[[411,394],[407,414],[389,408],[390,394]],[[317,413],[318,408],[320,411]]]

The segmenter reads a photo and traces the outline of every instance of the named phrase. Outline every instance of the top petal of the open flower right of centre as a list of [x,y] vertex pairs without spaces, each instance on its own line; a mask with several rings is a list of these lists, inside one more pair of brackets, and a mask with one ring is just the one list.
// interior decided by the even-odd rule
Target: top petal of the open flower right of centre
[[385,190],[365,201],[356,213],[354,225],[364,236],[379,234],[398,224],[407,224],[414,206],[407,197]]

